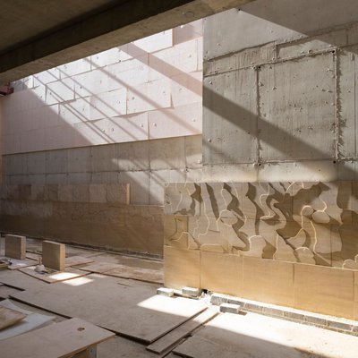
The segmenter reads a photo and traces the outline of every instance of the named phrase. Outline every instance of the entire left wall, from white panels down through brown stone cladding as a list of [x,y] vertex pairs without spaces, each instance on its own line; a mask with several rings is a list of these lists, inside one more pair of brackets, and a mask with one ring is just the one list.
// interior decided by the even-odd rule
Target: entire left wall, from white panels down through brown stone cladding
[[201,178],[201,77],[196,21],[14,82],[0,229],[161,255],[163,184]]

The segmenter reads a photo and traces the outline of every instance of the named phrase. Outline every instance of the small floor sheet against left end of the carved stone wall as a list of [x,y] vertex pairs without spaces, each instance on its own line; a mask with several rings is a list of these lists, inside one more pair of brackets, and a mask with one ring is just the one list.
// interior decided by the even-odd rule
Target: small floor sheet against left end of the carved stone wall
[[120,268],[111,269],[105,272],[105,275],[132,278],[147,282],[156,282],[162,284],[164,282],[163,270],[150,268],[132,268],[131,266],[120,265]]

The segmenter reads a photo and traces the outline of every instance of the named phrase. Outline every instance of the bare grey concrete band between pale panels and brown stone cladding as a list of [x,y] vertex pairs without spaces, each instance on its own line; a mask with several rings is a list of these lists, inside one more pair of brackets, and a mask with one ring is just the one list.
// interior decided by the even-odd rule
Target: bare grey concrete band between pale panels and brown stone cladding
[[201,177],[201,136],[4,156],[4,183],[129,183],[131,204],[163,205],[165,182]]

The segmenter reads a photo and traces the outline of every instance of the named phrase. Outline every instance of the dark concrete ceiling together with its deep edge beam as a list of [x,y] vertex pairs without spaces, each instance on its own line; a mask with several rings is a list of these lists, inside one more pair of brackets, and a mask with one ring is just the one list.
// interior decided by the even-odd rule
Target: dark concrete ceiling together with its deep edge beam
[[252,0],[0,0],[0,84]]

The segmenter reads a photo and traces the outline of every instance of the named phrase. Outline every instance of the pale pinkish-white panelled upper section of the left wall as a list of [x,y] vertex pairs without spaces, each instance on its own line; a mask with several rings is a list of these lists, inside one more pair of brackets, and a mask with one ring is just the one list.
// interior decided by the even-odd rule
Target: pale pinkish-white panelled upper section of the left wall
[[201,21],[13,83],[5,154],[201,132]]

